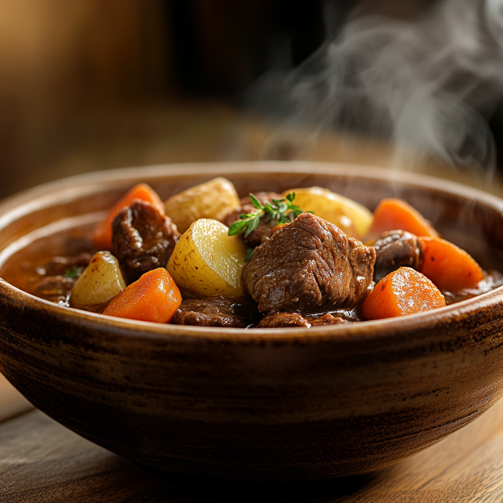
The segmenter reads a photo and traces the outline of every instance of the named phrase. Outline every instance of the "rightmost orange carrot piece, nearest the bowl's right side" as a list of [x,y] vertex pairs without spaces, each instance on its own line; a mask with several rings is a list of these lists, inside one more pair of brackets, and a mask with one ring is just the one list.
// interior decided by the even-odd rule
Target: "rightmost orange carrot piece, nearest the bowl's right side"
[[455,244],[440,237],[420,237],[419,242],[424,257],[419,270],[440,290],[459,292],[484,278],[480,266]]

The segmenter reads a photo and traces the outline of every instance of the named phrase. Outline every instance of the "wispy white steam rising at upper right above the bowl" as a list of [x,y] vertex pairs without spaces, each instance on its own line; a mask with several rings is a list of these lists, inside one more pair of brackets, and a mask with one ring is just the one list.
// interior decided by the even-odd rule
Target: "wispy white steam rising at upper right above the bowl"
[[249,97],[313,131],[389,139],[395,166],[435,156],[491,177],[503,0],[444,0],[416,22],[355,18],[299,67],[264,75]]

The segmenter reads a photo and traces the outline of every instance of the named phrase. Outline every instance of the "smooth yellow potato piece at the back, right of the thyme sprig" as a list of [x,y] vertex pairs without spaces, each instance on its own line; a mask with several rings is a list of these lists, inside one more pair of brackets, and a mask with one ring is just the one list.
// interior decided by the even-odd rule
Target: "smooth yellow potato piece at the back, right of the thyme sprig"
[[374,220],[371,211],[365,206],[328,189],[321,187],[290,189],[283,192],[283,196],[291,192],[295,192],[294,204],[337,225],[352,237],[358,239],[365,237]]

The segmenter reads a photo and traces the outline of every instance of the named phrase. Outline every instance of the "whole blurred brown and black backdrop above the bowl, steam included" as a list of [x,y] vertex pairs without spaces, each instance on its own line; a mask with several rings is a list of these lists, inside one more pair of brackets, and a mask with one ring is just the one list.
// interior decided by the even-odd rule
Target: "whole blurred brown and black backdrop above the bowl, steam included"
[[2,0],[0,197],[88,171],[247,159],[497,192],[499,17],[497,0]]

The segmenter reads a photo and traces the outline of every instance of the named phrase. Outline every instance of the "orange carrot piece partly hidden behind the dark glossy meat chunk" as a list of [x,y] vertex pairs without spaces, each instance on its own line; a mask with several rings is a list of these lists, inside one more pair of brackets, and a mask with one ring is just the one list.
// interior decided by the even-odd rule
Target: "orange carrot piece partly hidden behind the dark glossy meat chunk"
[[147,184],[135,185],[127,194],[125,194],[110,210],[105,220],[101,221],[93,231],[93,242],[99,250],[112,251],[112,223],[119,211],[124,206],[129,206],[133,199],[141,199],[155,206],[164,214],[164,204],[157,193]]

